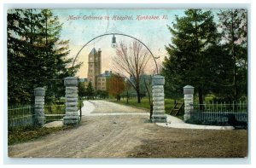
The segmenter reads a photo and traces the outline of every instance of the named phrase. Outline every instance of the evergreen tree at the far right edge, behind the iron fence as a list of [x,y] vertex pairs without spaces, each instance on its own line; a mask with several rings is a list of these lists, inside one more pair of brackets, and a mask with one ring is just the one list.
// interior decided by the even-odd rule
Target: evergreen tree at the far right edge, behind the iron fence
[[222,43],[232,65],[230,67],[231,88],[228,97],[237,101],[247,95],[247,10],[226,9],[218,13]]

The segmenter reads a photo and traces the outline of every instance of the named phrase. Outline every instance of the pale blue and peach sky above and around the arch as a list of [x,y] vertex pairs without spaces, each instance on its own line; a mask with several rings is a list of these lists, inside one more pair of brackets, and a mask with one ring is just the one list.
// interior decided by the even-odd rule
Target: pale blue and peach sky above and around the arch
[[[92,38],[104,33],[119,32],[138,38],[163,61],[166,55],[165,45],[171,42],[171,33],[167,25],[172,26],[175,15],[183,16],[183,9],[54,9],[53,12],[63,23],[61,39],[69,39],[70,56],[74,57],[82,46]],[[132,20],[112,20],[113,16],[130,17]],[[159,16],[160,20],[137,20],[137,16]],[[166,15],[167,19],[162,19]],[[84,20],[84,16],[100,17],[102,20]],[[109,20],[105,20],[109,16]],[[70,20],[76,17],[76,20]],[[116,36],[117,43],[130,43],[131,38]],[[83,62],[78,76],[87,77],[87,59],[94,47],[102,49],[102,72],[111,70],[111,59],[115,50],[111,48],[111,36],[97,38],[87,45],[79,54],[78,61]]]

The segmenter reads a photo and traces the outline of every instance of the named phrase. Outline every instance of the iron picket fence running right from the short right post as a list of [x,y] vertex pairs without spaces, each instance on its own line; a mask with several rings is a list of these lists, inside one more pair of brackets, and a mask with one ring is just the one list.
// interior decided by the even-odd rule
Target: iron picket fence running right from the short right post
[[[247,102],[212,102],[191,106],[191,119],[204,123],[244,124],[247,123]],[[239,123],[240,122],[240,123]]]

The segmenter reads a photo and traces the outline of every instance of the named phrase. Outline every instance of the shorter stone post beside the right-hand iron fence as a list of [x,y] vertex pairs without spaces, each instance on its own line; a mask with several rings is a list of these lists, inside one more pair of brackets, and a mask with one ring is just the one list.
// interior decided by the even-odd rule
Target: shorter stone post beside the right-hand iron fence
[[183,87],[183,94],[184,94],[184,121],[191,119],[191,113],[194,111],[194,87],[190,85],[186,85]]

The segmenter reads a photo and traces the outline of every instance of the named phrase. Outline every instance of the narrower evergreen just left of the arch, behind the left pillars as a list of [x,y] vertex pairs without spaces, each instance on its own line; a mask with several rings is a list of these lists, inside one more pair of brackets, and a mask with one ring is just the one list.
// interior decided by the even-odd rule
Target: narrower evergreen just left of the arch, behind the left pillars
[[57,16],[49,9],[43,9],[42,14],[42,46],[44,47],[44,76],[46,81],[46,101],[53,101],[55,97],[65,95],[63,78],[71,76],[71,69],[67,65],[73,59],[67,58],[69,54],[68,40],[61,40],[62,24]]

